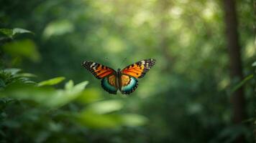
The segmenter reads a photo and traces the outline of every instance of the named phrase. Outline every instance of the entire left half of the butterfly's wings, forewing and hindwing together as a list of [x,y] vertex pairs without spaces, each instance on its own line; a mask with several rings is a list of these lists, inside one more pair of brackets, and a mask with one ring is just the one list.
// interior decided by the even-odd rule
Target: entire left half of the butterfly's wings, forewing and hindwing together
[[110,94],[116,94],[116,71],[108,66],[95,63],[93,61],[84,61],[83,66],[91,71],[94,77],[101,80],[101,87]]

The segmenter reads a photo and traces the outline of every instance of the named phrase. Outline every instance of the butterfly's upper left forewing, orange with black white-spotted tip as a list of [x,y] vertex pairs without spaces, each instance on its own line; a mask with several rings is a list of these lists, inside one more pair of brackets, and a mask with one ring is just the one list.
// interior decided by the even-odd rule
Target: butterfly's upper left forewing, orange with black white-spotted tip
[[91,74],[93,74],[93,76],[97,79],[103,79],[104,77],[116,73],[114,69],[111,69],[110,67],[104,66],[102,64],[95,63],[93,61],[83,61],[83,67],[88,69],[88,71],[91,71]]

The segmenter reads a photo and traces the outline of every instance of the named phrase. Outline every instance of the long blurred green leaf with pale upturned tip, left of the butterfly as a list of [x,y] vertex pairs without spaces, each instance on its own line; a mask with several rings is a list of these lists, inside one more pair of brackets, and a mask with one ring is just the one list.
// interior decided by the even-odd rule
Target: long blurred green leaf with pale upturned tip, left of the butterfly
[[29,100],[43,107],[58,108],[76,99],[81,92],[83,92],[86,84],[88,84],[88,82],[81,82],[65,90],[14,83],[7,86],[3,92],[0,92],[0,97]]

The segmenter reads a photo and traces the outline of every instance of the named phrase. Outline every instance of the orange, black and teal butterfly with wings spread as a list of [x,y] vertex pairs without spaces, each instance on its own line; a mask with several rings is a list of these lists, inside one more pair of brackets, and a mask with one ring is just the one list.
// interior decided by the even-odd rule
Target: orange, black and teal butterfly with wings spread
[[137,79],[144,77],[154,65],[155,59],[144,59],[115,71],[93,61],[83,61],[83,66],[91,71],[94,77],[101,79],[101,87],[110,94],[116,94],[117,90],[122,94],[131,94],[138,87]]

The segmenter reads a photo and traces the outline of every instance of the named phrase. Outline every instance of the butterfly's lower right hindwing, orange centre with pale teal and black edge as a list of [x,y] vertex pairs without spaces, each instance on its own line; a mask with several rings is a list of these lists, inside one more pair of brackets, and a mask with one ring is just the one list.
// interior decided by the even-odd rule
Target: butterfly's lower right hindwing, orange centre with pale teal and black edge
[[123,74],[120,80],[122,83],[120,92],[122,92],[122,94],[130,94],[134,92],[134,90],[137,89],[138,87],[138,81],[135,77],[131,77]]

